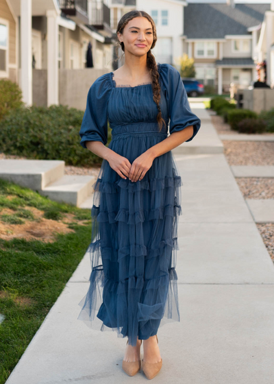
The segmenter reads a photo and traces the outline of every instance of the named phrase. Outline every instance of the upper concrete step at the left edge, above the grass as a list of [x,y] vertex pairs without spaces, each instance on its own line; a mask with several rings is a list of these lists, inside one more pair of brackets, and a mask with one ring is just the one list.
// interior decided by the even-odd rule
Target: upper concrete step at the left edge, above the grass
[[0,160],[0,178],[34,191],[44,189],[64,175],[63,160]]

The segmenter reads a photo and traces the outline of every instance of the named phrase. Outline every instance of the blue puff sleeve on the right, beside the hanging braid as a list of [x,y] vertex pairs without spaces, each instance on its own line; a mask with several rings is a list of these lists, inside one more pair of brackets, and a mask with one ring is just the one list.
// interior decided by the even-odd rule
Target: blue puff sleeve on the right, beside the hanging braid
[[188,95],[181,79],[179,71],[171,64],[161,64],[162,80],[166,88],[166,101],[169,111],[169,132],[184,130],[189,125],[193,125],[191,141],[201,127],[201,120],[191,112],[188,102]]

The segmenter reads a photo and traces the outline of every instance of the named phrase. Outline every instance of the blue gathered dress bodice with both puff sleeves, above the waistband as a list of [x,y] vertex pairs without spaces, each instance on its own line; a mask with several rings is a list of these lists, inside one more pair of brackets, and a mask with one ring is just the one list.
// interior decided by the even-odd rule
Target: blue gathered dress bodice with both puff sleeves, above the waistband
[[[191,141],[197,134],[201,120],[192,113],[188,103],[186,89],[179,71],[171,64],[158,63],[160,83],[160,108],[163,123],[158,125],[158,106],[153,100],[151,83],[137,86],[117,86],[113,80],[114,73],[101,75],[90,86],[86,111],[79,135],[80,144],[86,148],[86,141],[108,142],[108,122],[112,136],[118,134],[172,134],[189,125],[193,125]],[[125,136],[124,136],[125,137]]]

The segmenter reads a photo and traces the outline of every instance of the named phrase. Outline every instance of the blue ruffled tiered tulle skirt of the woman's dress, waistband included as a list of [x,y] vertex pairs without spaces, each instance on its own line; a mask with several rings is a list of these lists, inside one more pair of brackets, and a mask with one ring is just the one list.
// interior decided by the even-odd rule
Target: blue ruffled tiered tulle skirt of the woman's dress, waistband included
[[[138,128],[138,129],[137,129]],[[157,124],[112,130],[109,148],[132,164],[166,139]],[[90,285],[78,320],[116,331],[129,344],[148,339],[166,322],[179,321],[177,225],[181,185],[172,152],[153,160],[137,182],[121,178],[103,160],[91,209]]]

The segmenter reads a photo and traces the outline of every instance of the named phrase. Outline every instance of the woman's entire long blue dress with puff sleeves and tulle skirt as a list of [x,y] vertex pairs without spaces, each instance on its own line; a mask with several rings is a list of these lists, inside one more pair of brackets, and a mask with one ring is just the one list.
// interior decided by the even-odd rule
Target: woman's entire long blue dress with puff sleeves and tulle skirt
[[[179,71],[158,64],[160,107],[166,128],[159,132],[158,108],[151,83],[118,86],[113,72],[95,80],[88,91],[80,144],[108,142],[109,148],[133,161],[169,132],[201,120],[192,113]],[[91,328],[116,331],[135,346],[155,335],[159,326],[179,321],[177,296],[177,224],[181,185],[171,151],[156,157],[142,180],[123,179],[103,160],[91,208],[90,285],[79,302],[78,319]]]

